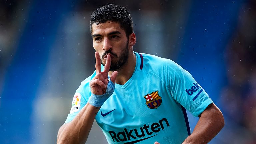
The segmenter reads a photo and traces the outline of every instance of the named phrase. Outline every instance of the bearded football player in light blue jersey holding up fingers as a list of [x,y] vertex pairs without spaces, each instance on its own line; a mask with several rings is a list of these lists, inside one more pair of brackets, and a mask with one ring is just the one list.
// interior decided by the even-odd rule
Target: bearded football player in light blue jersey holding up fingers
[[[96,71],[77,89],[57,143],[85,143],[94,119],[110,144],[201,144],[223,128],[221,111],[186,70],[133,51],[125,8],[97,9],[90,26]],[[199,117],[192,134],[185,108]]]

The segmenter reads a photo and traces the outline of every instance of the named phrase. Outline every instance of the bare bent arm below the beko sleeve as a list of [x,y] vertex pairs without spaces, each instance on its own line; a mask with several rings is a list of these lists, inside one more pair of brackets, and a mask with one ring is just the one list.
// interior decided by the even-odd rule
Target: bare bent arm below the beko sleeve
[[215,104],[201,114],[193,133],[182,144],[206,144],[224,127],[224,118]]

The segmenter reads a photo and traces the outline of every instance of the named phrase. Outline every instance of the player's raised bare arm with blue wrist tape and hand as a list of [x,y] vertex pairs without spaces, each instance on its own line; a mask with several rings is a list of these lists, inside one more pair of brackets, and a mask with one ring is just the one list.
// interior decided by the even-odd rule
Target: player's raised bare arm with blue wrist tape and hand
[[[81,109],[81,111],[72,121],[60,127],[57,136],[58,144],[85,143],[92,128],[96,114],[98,113],[101,105],[111,95],[108,94],[108,97],[103,95],[106,93],[109,83],[108,72],[111,58],[109,55],[107,55],[107,62],[103,72],[101,72],[100,55],[98,52],[95,52],[95,58],[96,76],[90,81],[90,88],[92,93],[92,96],[90,97],[91,99],[89,98],[88,103]],[[117,74],[118,72],[114,71],[110,77],[110,80],[113,83],[115,83]]]

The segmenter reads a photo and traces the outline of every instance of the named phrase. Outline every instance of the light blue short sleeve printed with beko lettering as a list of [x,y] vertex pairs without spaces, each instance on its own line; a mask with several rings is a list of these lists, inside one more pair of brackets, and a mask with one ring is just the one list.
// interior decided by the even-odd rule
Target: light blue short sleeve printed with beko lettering
[[209,104],[213,103],[202,86],[188,71],[174,62],[168,66],[168,69],[170,75],[167,82],[172,97],[194,117],[197,117]]

